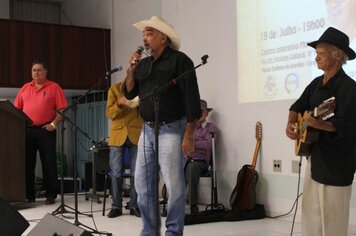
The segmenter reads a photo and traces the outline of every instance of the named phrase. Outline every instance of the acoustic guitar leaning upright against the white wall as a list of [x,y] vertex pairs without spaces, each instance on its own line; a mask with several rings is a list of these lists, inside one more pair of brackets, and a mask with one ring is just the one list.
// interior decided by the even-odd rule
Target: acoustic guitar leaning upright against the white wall
[[251,165],[244,165],[237,174],[236,186],[230,197],[231,209],[234,211],[252,210],[256,206],[256,183],[258,173],[255,170],[262,141],[262,124],[256,123],[256,147]]

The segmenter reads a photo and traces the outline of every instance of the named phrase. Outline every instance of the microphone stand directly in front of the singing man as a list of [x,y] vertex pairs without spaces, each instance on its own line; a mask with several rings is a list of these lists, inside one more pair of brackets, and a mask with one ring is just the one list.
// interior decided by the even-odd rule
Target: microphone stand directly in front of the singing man
[[151,92],[147,93],[143,98],[140,98],[140,101],[145,101],[148,98],[153,98],[153,106],[154,106],[154,112],[155,112],[155,125],[154,125],[154,138],[155,138],[155,165],[156,165],[156,173],[155,173],[155,179],[157,181],[156,186],[155,186],[155,193],[156,193],[156,199],[154,201],[155,204],[155,214],[154,214],[154,218],[155,218],[155,224],[157,227],[156,228],[156,232],[155,235],[159,236],[160,235],[160,231],[161,229],[158,227],[159,226],[159,199],[158,199],[158,195],[159,195],[159,188],[158,188],[158,178],[159,178],[159,145],[158,145],[158,137],[159,137],[159,95],[161,92],[163,92],[164,90],[168,89],[170,86],[173,86],[175,84],[177,84],[178,81],[180,81],[182,78],[184,78],[185,75],[192,73],[193,71],[195,71],[197,68],[199,68],[202,65],[205,65],[207,63],[207,59],[208,59],[208,55],[204,55],[201,57],[202,62],[195,66],[194,68],[185,71],[184,73],[178,75],[175,79],[172,79],[171,81],[163,84],[161,87],[155,88],[153,89]]

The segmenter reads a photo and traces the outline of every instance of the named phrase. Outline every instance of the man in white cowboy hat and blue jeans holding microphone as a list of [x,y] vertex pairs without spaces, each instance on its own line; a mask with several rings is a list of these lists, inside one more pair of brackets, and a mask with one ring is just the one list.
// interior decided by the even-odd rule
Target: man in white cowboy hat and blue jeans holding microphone
[[[139,52],[131,55],[123,87],[126,98],[139,95],[144,126],[138,143],[135,186],[143,229],[141,235],[159,234],[160,218],[157,203],[157,168],[167,186],[168,212],[166,235],[183,235],[185,210],[184,158],[194,150],[196,120],[201,116],[200,96],[194,65],[178,51],[180,40],[173,27],[158,16],[143,20],[134,27],[143,32],[146,58]],[[188,72],[164,89],[158,96],[145,99],[154,89],[162,87]],[[156,124],[154,100],[159,100]],[[158,102],[156,103],[158,104]],[[159,150],[156,166],[155,125],[159,126]],[[156,218],[158,217],[158,219]]]

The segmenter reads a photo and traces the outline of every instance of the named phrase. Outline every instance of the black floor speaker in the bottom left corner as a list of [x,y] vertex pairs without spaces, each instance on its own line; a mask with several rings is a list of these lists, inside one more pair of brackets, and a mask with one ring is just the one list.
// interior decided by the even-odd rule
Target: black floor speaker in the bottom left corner
[[0,197],[0,235],[21,235],[30,224]]

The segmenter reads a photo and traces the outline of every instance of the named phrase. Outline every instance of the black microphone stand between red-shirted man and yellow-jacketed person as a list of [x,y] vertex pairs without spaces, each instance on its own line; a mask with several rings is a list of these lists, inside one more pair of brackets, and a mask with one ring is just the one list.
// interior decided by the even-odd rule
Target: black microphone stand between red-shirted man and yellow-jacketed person
[[[104,235],[109,235],[111,236],[112,234],[111,233],[108,233],[108,232],[100,232],[100,231],[97,231],[93,228],[90,228],[89,226],[86,226],[84,225],[83,223],[79,222],[78,220],[78,187],[77,187],[77,176],[78,176],[78,173],[77,173],[77,149],[78,149],[78,144],[77,144],[77,131],[79,131],[81,134],[83,134],[85,137],[87,137],[92,143],[93,143],[93,148],[96,147],[96,144],[98,142],[95,142],[92,138],[89,137],[89,135],[84,132],[82,129],[80,129],[77,124],[76,124],[76,106],[77,104],[79,103],[80,99],[82,99],[83,97],[86,97],[89,93],[91,93],[96,87],[98,87],[101,83],[101,80],[103,78],[105,78],[106,80],[108,80],[110,78],[110,75],[114,72],[117,72],[117,71],[120,71],[122,69],[122,67],[119,67],[119,68],[115,68],[109,72],[106,72],[104,73],[102,76],[99,77],[98,79],[98,82],[92,86],[86,93],[80,95],[76,100],[74,100],[72,102],[72,104],[70,106],[68,106],[67,108],[65,108],[63,111],[60,111],[60,110],[56,110],[56,112],[58,114],[60,114],[63,118],[63,121],[67,121],[72,127],[74,127],[74,156],[73,156],[73,181],[74,181],[74,225],[76,226],[83,226],[89,230],[91,230],[91,233],[94,233],[94,234],[104,234]],[[75,123],[73,123],[66,115],[65,115],[65,112],[68,111],[69,109],[73,109],[74,110],[74,120],[75,120]],[[94,163],[93,163],[94,165]],[[94,177],[93,177],[94,178]],[[80,213],[80,214],[83,214],[83,213]],[[89,217],[92,217],[92,215],[87,215]]]

